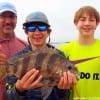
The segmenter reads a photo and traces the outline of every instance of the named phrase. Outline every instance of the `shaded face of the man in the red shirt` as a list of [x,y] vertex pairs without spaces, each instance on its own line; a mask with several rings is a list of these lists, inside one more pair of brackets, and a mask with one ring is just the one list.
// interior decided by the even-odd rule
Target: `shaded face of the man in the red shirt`
[[17,16],[6,11],[0,14],[0,37],[5,37],[14,34],[14,29],[17,23]]

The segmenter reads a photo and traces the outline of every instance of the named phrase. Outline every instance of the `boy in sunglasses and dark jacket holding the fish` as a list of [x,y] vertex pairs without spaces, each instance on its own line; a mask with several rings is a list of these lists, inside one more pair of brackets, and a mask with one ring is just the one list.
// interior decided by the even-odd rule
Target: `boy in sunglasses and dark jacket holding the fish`
[[[44,13],[33,12],[29,14],[26,18],[26,22],[23,24],[23,29],[28,36],[29,45],[15,56],[39,48],[54,48],[46,43],[46,40],[51,33],[51,28],[47,16]],[[59,53],[61,52],[59,51]],[[53,88],[49,96],[43,97],[41,89],[39,88],[42,76],[40,75],[37,80],[33,81],[38,73],[38,70],[32,69],[20,80],[10,78],[11,81],[15,79],[17,82],[12,82],[12,84],[15,83],[15,85],[7,90],[8,100],[68,100],[70,93],[69,88],[77,82],[74,74],[69,71],[67,73],[64,72],[59,80],[58,86]],[[10,80],[8,80],[8,84]]]

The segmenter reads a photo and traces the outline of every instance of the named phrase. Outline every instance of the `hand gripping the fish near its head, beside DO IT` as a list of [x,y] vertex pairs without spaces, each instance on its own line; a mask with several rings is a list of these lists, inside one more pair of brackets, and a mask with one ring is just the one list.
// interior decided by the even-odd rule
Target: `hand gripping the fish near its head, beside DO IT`
[[58,88],[59,89],[70,89],[73,85],[77,83],[76,76],[70,71],[64,72],[61,77]]

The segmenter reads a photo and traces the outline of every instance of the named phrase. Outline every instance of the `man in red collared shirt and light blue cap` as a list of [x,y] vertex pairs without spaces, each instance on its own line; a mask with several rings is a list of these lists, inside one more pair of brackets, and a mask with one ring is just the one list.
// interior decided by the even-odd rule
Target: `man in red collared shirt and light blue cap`
[[[26,46],[26,42],[15,35],[16,23],[15,6],[8,2],[0,3],[0,64]],[[0,79],[0,100],[6,100],[5,97],[5,81]]]

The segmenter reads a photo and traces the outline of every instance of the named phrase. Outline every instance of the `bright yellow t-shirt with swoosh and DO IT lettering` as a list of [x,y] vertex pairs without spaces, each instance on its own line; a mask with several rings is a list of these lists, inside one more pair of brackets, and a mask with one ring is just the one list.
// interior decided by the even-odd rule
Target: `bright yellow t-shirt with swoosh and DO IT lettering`
[[76,62],[80,73],[71,100],[100,100],[100,40],[89,46],[72,41],[63,44],[60,50],[69,60]]

